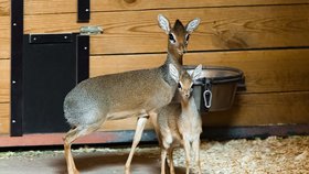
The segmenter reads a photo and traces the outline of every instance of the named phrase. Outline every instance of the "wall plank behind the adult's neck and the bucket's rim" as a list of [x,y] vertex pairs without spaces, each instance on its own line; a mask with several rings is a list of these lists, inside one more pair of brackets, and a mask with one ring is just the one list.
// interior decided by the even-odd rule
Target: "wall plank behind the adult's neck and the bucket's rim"
[[[309,50],[188,53],[185,65],[232,66],[244,72],[246,93],[309,90]],[[150,68],[166,54],[92,56],[90,76]]]

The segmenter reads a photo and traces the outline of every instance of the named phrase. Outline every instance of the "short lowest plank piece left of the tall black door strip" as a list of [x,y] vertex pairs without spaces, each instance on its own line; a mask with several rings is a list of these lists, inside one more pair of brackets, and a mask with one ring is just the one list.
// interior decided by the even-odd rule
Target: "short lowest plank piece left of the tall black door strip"
[[0,104],[0,134],[10,132],[10,104]]

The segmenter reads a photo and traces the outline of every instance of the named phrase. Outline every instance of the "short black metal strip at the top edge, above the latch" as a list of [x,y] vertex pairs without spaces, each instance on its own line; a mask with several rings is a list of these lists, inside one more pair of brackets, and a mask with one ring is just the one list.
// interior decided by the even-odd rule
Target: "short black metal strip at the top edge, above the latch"
[[77,1],[77,22],[89,22],[90,20],[90,0]]

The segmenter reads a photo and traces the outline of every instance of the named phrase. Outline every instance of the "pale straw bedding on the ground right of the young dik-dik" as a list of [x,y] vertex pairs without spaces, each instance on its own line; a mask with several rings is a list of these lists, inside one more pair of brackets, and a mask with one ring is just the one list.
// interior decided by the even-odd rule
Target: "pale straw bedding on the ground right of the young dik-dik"
[[[184,166],[183,152],[175,155]],[[309,173],[309,137],[203,142],[201,165],[210,174]]]

